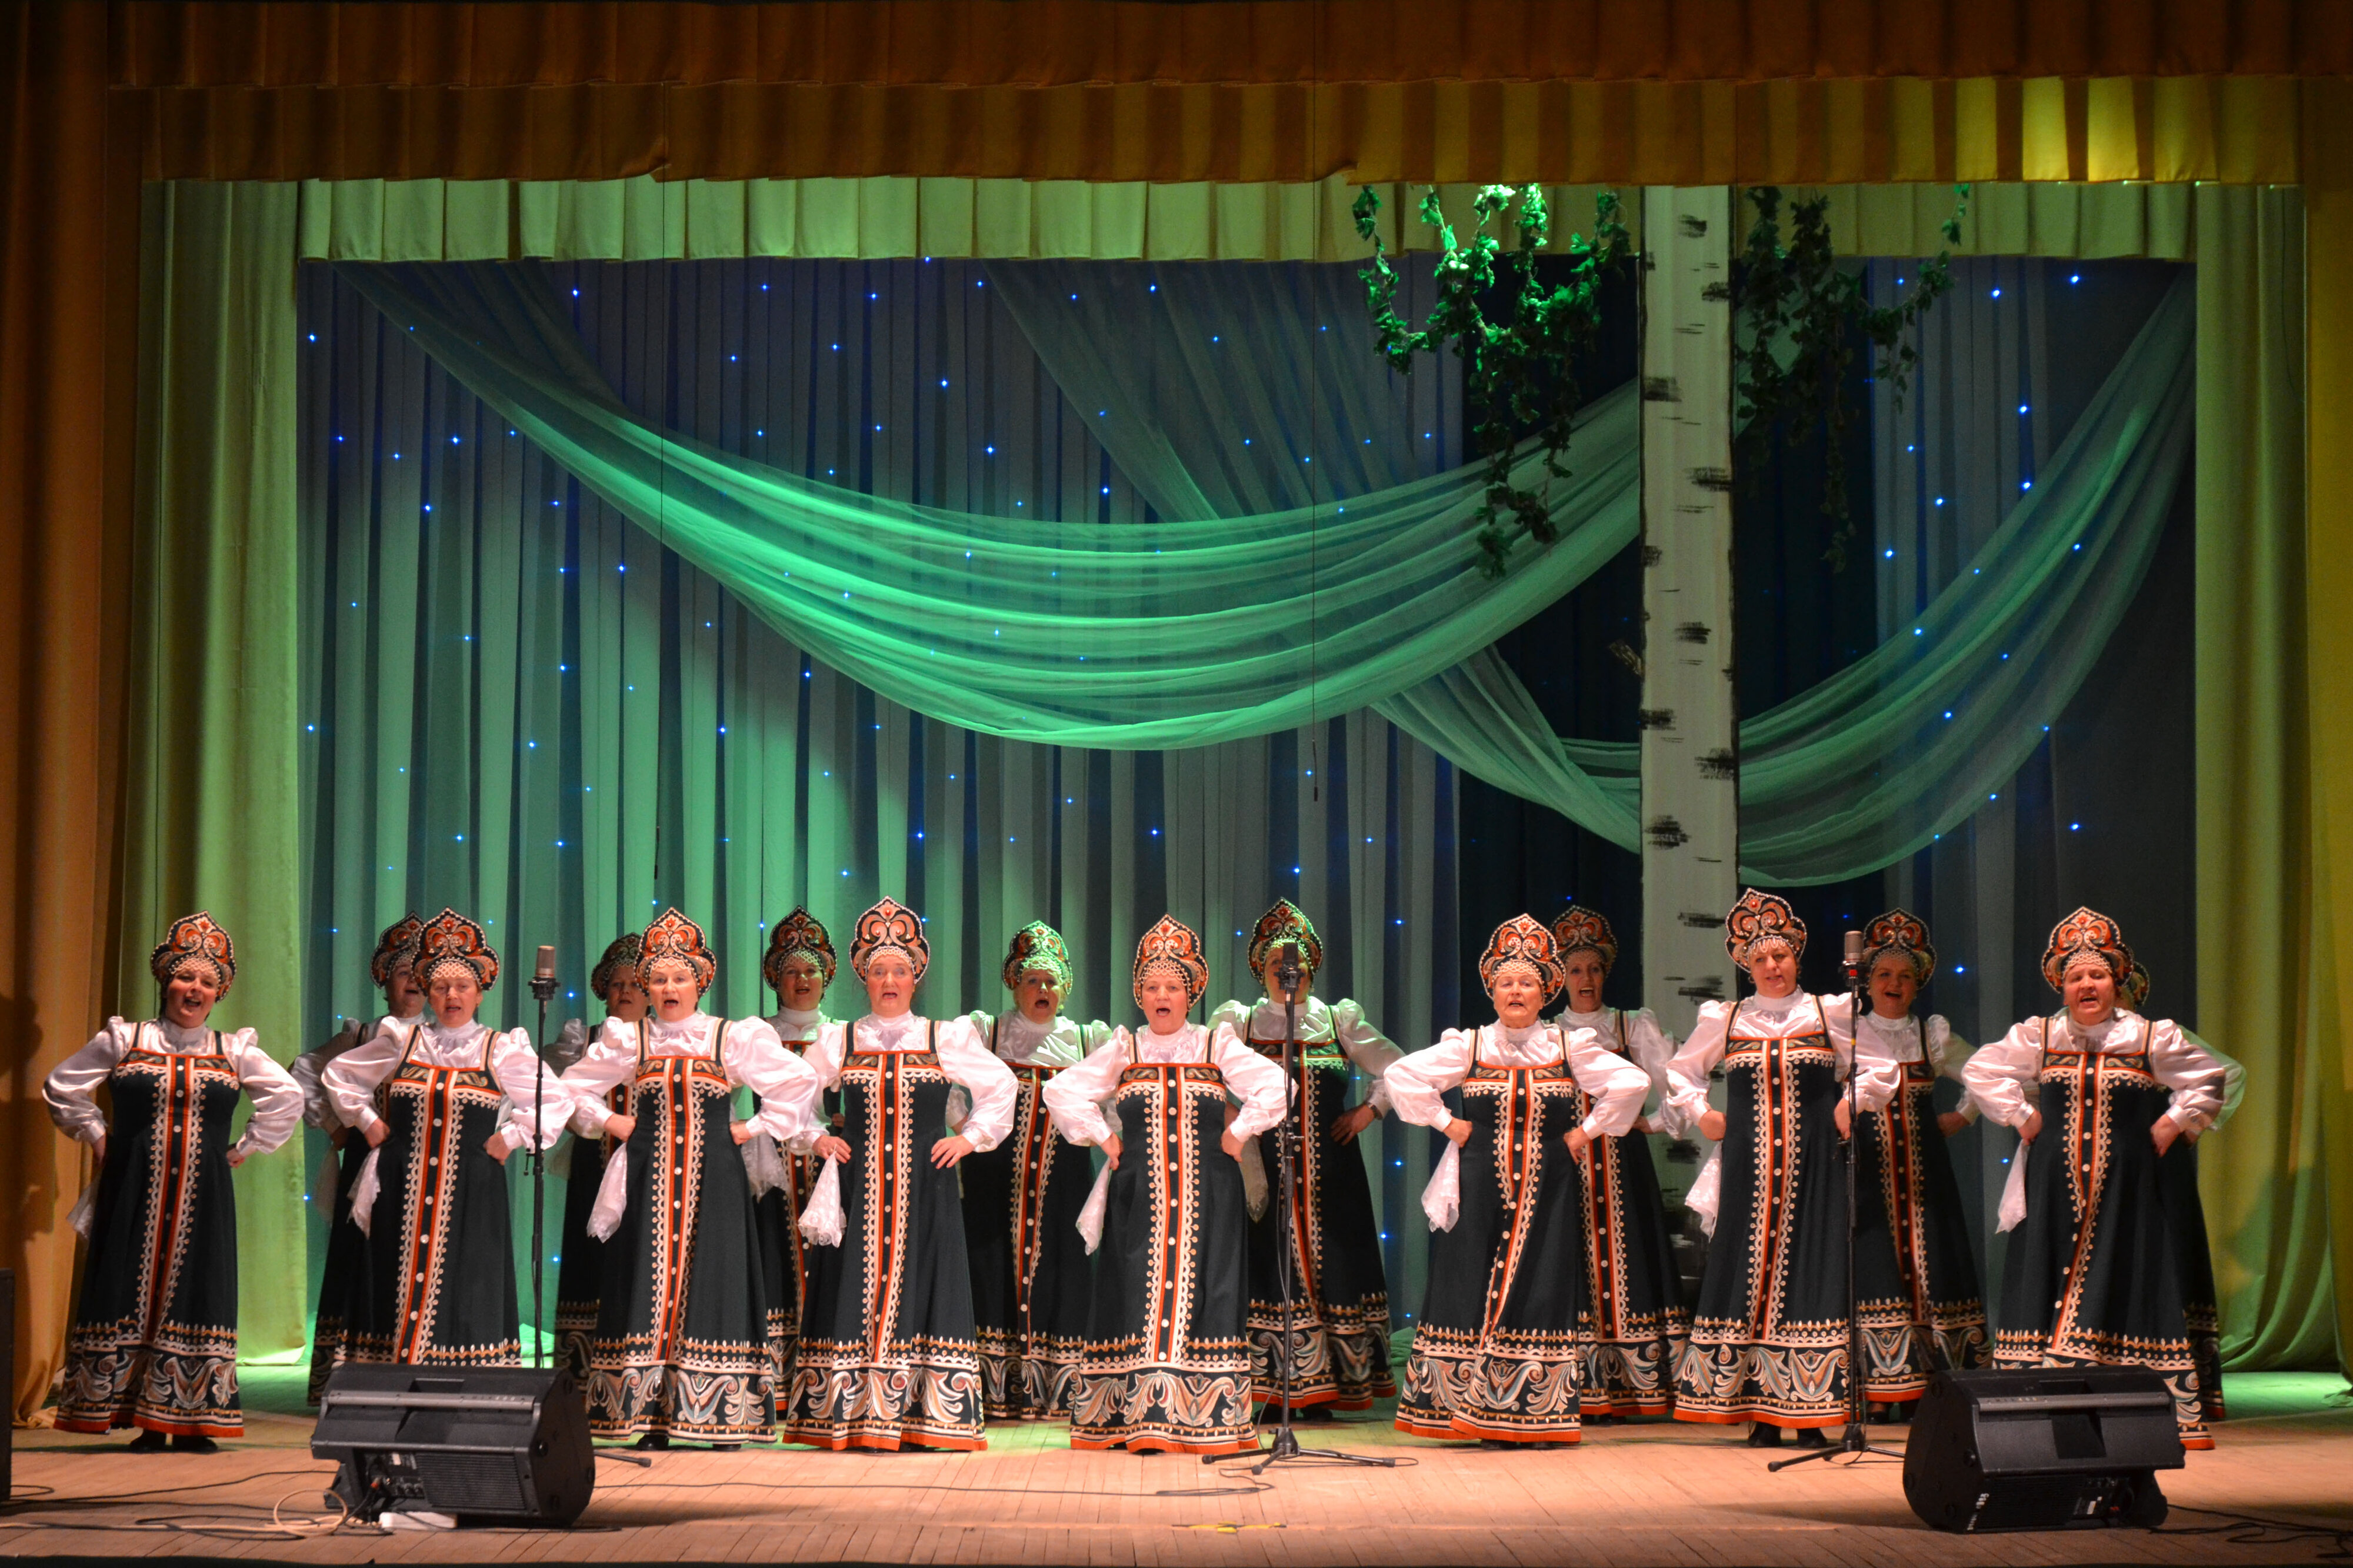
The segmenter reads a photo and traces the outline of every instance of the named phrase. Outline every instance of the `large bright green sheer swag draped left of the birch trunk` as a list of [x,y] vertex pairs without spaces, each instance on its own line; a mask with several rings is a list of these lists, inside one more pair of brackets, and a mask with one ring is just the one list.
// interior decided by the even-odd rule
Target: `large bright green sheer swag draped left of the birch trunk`
[[1520,624],[1635,530],[1631,388],[1586,414],[1588,461],[1555,485],[1562,539],[1489,579],[1468,527],[1475,469],[1217,527],[915,506],[652,428],[595,379],[527,268],[348,275],[772,626],[896,702],[1009,739],[1198,746],[1365,706]]

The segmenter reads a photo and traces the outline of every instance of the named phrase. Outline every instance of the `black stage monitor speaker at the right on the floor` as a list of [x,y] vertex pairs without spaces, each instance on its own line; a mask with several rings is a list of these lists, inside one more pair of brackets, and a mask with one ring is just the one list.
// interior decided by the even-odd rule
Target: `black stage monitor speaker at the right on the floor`
[[1904,1497],[1939,1530],[2160,1526],[2160,1469],[2181,1469],[2181,1431],[2155,1373],[1937,1373],[1911,1420]]

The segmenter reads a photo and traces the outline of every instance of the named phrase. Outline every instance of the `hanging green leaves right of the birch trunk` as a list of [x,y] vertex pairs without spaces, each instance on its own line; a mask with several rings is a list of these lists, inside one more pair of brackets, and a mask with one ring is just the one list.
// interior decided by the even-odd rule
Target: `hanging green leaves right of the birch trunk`
[[[1948,247],[1960,245],[1960,221],[1969,212],[1969,186],[1953,186],[1953,193],[1958,205],[1944,221]],[[1748,202],[1755,221],[1732,261],[1732,469],[1744,483],[1760,483],[1772,469],[1774,426],[1793,447],[1821,431],[1821,513],[1835,523],[1824,558],[1842,572],[1854,542],[1845,450],[1857,419],[1847,403],[1854,332],[1878,351],[1875,374],[1901,410],[1920,363],[1911,330],[1953,287],[1953,252],[1937,252],[1911,294],[1873,306],[1861,273],[1840,266],[1831,250],[1826,195],[1788,205],[1786,242],[1781,188],[1751,186]]]

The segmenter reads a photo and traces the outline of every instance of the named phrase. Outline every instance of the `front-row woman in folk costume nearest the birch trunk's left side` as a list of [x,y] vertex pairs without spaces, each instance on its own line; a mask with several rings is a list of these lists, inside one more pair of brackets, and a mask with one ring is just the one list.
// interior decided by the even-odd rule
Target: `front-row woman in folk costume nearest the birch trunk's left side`
[[[1574,1443],[1593,1144],[1633,1128],[1649,1074],[1593,1029],[1544,1022],[1562,972],[1539,921],[1497,925],[1478,975],[1494,1022],[1388,1069],[1398,1116],[1452,1144],[1421,1198],[1435,1236],[1398,1431]],[[1445,1102],[1457,1085],[1461,1116]]]

